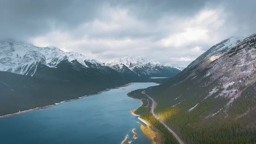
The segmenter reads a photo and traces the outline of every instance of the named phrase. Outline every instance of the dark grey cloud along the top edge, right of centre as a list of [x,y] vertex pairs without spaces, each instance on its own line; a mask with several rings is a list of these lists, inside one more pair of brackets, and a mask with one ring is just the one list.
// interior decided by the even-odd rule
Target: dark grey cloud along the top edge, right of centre
[[193,16],[209,5],[215,6],[220,0],[120,0],[112,1],[115,7],[128,8],[136,17],[149,21],[163,16]]

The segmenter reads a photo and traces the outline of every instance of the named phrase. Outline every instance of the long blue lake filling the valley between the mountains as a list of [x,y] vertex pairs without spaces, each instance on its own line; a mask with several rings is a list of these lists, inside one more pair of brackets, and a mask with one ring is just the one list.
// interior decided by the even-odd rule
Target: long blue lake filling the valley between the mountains
[[[141,122],[130,111],[141,102],[126,96],[132,90],[158,85],[133,83],[41,111],[0,119],[0,144],[150,144]],[[139,123],[138,123],[139,121]],[[138,133],[133,140],[132,129]]]

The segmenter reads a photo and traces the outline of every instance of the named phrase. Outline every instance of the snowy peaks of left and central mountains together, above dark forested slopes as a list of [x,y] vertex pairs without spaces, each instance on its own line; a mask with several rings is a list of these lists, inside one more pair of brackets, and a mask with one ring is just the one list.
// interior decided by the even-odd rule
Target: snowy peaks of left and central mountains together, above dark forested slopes
[[[32,44],[5,41],[0,42],[0,71],[13,72],[21,75],[42,76],[44,69],[59,69],[63,62],[72,65],[75,69],[84,70],[90,76],[94,74],[112,73],[114,69],[121,74],[131,74],[138,77],[172,77],[181,70],[171,65],[136,57],[116,58],[105,62],[105,65],[95,59],[88,59],[76,52],[63,52],[56,47],[37,47]],[[97,72],[96,72],[97,71]],[[45,71],[44,71],[45,72]]]

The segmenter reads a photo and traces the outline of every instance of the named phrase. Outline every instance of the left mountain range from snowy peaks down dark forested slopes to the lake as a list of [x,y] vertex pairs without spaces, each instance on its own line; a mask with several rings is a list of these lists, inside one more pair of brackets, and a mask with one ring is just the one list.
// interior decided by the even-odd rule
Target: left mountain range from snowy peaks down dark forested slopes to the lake
[[148,63],[133,64],[137,73],[130,69],[121,72],[76,52],[2,41],[0,115],[95,94],[128,82],[148,81],[151,76],[164,77],[167,72],[170,77],[180,72],[172,66],[150,67],[155,65],[151,64],[153,61],[144,60]]

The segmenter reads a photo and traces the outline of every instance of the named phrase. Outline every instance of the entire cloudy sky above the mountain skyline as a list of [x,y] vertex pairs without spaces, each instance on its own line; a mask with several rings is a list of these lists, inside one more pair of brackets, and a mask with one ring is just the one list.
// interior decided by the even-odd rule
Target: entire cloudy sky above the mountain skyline
[[230,36],[256,33],[256,0],[0,0],[0,39],[105,62],[142,56],[186,67]]

